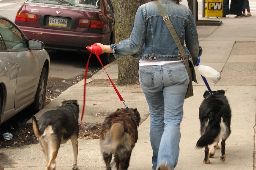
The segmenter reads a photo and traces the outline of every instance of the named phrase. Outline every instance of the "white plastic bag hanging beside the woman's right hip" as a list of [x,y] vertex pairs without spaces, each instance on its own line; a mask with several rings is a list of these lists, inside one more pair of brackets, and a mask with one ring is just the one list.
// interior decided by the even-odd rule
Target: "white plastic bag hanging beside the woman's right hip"
[[195,66],[195,69],[200,73],[200,75],[211,80],[215,84],[219,82],[221,78],[220,73],[209,66],[198,65]]

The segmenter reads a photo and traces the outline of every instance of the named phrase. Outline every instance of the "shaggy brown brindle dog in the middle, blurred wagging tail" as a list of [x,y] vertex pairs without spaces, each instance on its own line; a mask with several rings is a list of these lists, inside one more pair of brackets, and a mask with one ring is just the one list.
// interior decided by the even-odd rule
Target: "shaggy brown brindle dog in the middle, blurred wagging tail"
[[132,149],[138,140],[140,114],[137,109],[117,109],[110,114],[101,126],[100,149],[107,170],[111,170],[112,155],[117,170],[126,170]]

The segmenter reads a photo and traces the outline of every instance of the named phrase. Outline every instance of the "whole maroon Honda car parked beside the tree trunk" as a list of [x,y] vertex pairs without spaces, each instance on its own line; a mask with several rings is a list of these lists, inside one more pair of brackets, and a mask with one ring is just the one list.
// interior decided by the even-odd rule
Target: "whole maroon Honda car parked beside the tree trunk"
[[[115,42],[112,0],[26,0],[15,23],[46,49],[80,53],[97,42]],[[100,56],[103,64],[108,64],[109,56]]]

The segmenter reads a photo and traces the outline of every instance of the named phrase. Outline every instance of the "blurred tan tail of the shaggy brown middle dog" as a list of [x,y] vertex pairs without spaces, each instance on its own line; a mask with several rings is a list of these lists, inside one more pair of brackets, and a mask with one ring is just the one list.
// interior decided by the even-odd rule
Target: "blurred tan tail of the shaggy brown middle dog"
[[118,146],[122,143],[122,136],[124,133],[124,126],[121,123],[114,123],[110,129],[112,136],[111,150],[113,153],[116,152]]

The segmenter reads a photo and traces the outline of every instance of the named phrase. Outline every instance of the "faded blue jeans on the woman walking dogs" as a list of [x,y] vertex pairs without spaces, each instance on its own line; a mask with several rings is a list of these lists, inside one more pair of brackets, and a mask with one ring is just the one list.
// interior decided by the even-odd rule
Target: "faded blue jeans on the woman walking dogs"
[[183,62],[140,66],[139,80],[150,112],[150,141],[153,170],[178,162],[180,123],[189,76]]

